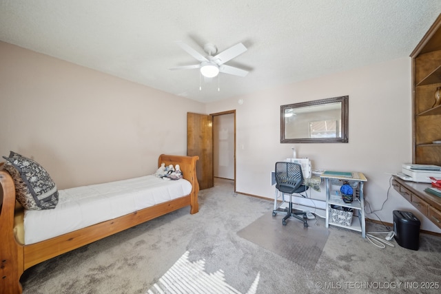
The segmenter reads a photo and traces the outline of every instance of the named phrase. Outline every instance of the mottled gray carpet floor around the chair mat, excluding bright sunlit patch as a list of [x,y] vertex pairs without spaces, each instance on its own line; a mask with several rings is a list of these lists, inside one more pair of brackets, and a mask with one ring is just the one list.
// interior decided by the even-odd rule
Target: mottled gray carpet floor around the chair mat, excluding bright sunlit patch
[[[22,276],[23,293],[147,293],[187,252],[189,262],[203,260],[204,273],[222,273],[225,284],[238,293],[250,288],[260,294],[437,293],[410,290],[404,284],[396,288],[367,285],[439,283],[441,238],[421,235],[418,251],[396,242],[395,248],[378,249],[358,232],[329,227],[316,266],[305,269],[238,235],[262,216],[271,221],[273,202],[234,194],[233,189],[232,181],[216,179],[214,188],[199,194],[199,213],[190,215],[188,208],[180,209],[32,266]],[[299,222],[291,220],[286,229],[302,228]],[[324,224],[321,218],[309,221],[309,229]],[[384,227],[367,223],[367,231],[379,229]]]

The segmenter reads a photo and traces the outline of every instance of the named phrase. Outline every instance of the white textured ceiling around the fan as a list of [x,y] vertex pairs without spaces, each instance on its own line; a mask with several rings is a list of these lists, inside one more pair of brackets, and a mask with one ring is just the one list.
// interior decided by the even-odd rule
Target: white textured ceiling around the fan
[[[440,0],[0,0],[0,40],[209,103],[409,56]],[[242,42],[245,77],[169,70]],[[204,54],[205,55],[205,54]],[[218,91],[218,85],[220,91]]]

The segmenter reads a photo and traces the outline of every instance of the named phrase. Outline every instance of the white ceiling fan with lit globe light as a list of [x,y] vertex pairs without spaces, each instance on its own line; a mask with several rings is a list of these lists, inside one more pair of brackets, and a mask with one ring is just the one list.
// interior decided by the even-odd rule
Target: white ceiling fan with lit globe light
[[214,55],[218,51],[215,45],[210,43],[205,44],[204,51],[208,54],[207,56],[203,56],[186,43],[183,43],[183,41],[177,41],[176,43],[200,63],[195,65],[172,67],[170,70],[191,70],[194,68],[199,68],[201,70],[201,74],[207,78],[213,78],[214,76],[217,76],[219,72],[223,72],[224,74],[233,74],[235,76],[246,76],[248,74],[246,70],[225,64],[227,61],[230,61],[247,51],[247,48],[243,45],[243,43],[238,43],[217,55]]

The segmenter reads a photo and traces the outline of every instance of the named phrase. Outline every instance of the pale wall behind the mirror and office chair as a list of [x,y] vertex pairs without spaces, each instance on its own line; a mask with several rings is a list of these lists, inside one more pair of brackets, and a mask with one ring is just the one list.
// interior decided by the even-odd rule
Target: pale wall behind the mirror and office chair
[[[280,105],[345,95],[349,95],[349,143],[280,143]],[[243,99],[242,105],[238,99]],[[408,210],[420,217],[422,229],[441,232],[389,189],[391,174],[412,159],[410,58],[206,105],[207,113],[231,109],[236,109],[238,192],[273,198],[270,171],[277,160],[292,156],[294,146],[298,157],[311,159],[313,169],[364,173],[367,211],[381,209],[376,215],[368,213],[368,218],[391,223],[394,209]]]

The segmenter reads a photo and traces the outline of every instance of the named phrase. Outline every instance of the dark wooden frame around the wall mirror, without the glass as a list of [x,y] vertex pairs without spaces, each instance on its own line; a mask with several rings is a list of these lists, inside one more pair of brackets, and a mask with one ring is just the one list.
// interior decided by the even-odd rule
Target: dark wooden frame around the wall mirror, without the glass
[[[331,103],[340,103],[341,118],[339,123],[341,125],[341,136],[336,138],[285,138],[285,112],[287,109],[297,109],[297,111],[305,112],[308,108],[314,108],[320,105],[326,106],[330,105]],[[326,120],[326,118],[324,118],[324,120]],[[280,143],[348,143],[348,135],[349,96],[340,96],[280,106]]]

